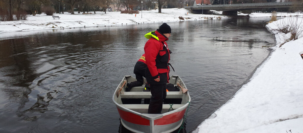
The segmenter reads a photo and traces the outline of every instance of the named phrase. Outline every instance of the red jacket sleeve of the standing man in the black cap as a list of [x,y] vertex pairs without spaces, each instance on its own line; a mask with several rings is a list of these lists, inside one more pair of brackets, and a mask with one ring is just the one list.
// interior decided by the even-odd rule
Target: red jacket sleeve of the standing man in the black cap
[[[151,38],[153,39],[153,38]],[[157,76],[158,75],[158,70],[156,67],[156,57],[159,53],[159,50],[161,48],[161,46],[159,45],[159,43],[157,43],[154,40],[149,39],[144,46],[144,52],[145,52],[145,62],[146,65],[149,69],[149,71],[151,72],[151,76]]]

